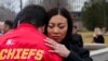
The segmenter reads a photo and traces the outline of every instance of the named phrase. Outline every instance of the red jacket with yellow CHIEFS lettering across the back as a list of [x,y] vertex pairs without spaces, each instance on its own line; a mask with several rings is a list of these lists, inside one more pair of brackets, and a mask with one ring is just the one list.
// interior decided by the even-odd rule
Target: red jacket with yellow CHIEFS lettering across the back
[[23,23],[0,36],[0,61],[62,61],[44,45],[46,37],[35,26]]

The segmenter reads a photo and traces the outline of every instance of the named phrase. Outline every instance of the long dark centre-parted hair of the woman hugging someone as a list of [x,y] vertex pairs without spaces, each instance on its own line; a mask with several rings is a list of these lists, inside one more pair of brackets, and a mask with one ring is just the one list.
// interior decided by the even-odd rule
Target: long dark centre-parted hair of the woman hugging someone
[[70,13],[65,8],[54,8],[48,12],[48,21],[45,23],[45,30],[44,34],[48,35],[48,24],[52,16],[60,14],[67,19],[68,29],[66,37],[62,40],[62,44],[66,44],[67,41],[72,41],[71,32],[72,32],[72,19]]

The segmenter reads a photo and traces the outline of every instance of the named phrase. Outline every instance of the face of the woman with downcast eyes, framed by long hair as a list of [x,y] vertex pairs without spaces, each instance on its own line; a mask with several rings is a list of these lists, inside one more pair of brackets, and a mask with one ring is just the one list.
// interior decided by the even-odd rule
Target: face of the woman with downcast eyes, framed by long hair
[[68,29],[67,19],[57,14],[51,17],[48,25],[48,37],[60,42]]

